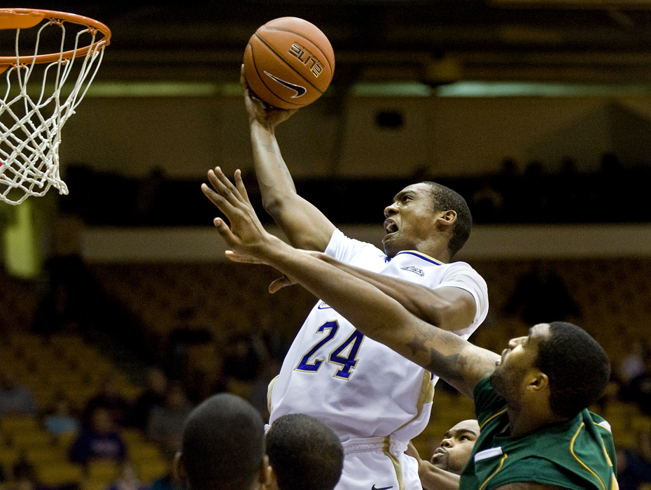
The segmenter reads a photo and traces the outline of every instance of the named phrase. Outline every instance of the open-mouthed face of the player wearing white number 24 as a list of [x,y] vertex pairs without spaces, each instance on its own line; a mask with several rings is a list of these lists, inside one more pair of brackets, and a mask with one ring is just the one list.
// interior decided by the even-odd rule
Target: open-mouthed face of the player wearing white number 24
[[391,206],[384,209],[384,253],[388,257],[402,250],[427,253],[428,245],[435,242],[436,219],[442,215],[443,212],[435,210],[429,185],[405,187],[393,198]]

